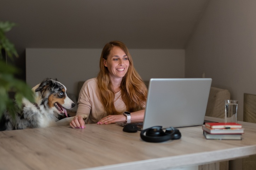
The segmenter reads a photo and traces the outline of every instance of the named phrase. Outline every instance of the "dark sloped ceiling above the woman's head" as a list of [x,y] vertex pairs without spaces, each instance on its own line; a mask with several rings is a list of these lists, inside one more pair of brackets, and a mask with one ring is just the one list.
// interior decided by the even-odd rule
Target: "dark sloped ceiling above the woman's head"
[[0,0],[7,36],[21,48],[184,49],[209,0]]

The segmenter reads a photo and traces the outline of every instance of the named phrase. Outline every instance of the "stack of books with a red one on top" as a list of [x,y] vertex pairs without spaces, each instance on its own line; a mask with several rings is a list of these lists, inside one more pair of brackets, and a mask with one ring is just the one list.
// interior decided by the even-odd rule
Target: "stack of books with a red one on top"
[[241,140],[244,129],[239,123],[205,123],[202,126],[206,139]]

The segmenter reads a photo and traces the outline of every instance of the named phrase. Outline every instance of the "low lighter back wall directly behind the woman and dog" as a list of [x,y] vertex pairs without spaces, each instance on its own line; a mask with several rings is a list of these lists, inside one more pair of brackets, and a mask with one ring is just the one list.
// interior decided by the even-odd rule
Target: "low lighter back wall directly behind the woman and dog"
[[[130,49],[134,67],[143,80],[184,78],[184,49]],[[78,81],[96,77],[101,49],[26,49],[26,81],[31,86],[57,78],[76,94]]]

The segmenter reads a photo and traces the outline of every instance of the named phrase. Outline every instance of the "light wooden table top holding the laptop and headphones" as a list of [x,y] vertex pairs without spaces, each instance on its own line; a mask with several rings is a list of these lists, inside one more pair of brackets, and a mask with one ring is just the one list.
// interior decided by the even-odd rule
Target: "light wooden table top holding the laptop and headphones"
[[256,154],[256,124],[239,123],[243,140],[206,140],[201,126],[179,128],[180,140],[162,143],[142,141],[139,132],[123,132],[116,124],[2,131],[0,169],[155,170]]

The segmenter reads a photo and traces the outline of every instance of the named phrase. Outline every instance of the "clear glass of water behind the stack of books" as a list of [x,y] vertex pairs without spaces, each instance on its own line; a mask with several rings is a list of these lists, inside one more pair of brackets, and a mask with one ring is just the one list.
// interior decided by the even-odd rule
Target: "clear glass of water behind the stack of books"
[[237,123],[237,100],[225,100],[225,123]]

